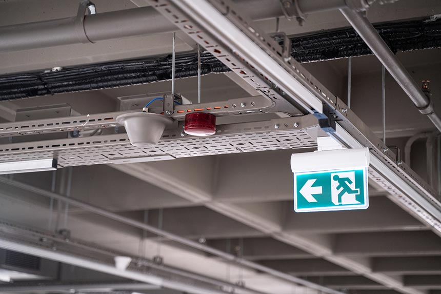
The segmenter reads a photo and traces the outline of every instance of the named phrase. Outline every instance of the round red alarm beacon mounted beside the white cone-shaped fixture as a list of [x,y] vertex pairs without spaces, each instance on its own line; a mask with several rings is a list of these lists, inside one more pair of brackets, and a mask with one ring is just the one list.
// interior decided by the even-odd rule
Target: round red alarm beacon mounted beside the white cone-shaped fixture
[[204,112],[187,113],[184,131],[193,136],[214,135],[216,133],[216,116]]

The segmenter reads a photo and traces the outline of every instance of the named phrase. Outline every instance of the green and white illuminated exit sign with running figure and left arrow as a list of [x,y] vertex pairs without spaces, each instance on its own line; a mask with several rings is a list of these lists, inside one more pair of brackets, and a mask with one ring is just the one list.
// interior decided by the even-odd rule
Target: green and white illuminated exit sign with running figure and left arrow
[[368,166],[368,148],[292,154],[294,210],[368,208]]

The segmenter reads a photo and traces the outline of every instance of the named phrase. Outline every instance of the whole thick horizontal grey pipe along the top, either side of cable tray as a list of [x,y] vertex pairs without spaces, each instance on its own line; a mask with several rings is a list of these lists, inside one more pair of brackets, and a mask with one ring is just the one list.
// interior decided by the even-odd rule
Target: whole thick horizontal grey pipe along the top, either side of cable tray
[[[275,0],[240,0],[237,5],[255,21],[284,15],[279,1]],[[299,2],[299,10],[304,14],[342,7],[345,7],[345,0]],[[0,52],[96,43],[174,31],[179,29],[153,7],[141,7],[85,15],[83,22],[78,22],[78,16],[73,16],[0,27]]]

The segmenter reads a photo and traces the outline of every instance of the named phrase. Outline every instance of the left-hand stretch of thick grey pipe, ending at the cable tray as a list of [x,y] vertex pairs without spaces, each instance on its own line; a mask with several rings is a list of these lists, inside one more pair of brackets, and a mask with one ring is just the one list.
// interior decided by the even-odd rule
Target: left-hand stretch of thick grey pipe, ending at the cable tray
[[[0,52],[28,50],[84,42],[76,16],[0,27]],[[91,43],[114,38],[176,31],[176,26],[152,7],[84,16],[84,32]],[[81,28],[80,28],[81,29]]]

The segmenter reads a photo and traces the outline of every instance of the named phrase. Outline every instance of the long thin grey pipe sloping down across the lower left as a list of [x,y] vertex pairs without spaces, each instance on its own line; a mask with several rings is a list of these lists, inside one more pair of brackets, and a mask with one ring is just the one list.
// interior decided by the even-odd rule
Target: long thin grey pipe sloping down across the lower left
[[[109,218],[109,219],[112,219],[112,220],[115,220],[115,221],[118,221],[118,222],[121,222],[121,223],[124,223],[124,224],[127,224],[127,225],[131,225],[133,227],[137,227],[137,228],[140,228],[140,229],[143,229],[143,230],[147,230],[147,231],[149,231],[151,233],[157,234],[158,236],[162,236],[164,238],[167,238],[169,240],[175,241],[177,243],[189,246],[191,248],[198,249],[198,250],[201,250],[201,251],[213,254],[214,256],[223,258],[223,259],[225,259],[227,261],[236,262],[237,264],[242,264],[242,265],[247,266],[249,268],[252,268],[252,269],[255,269],[255,270],[258,270],[258,271],[262,271],[262,272],[268,273],[271,276],[283,279],[283,280],[288,281],[288,282],[292,282],[292,283],[296,283],[296,284],[299,284],[299,285],[303,285],[305,287],[309,287],[311,289],[322,291],[322,292],[328,293],[328,294],[344,294],[341,291],[337,291],[337,290],[334,290],[334,289],[331,289],[331,288],[328,288],[328,287],[325,287],[325,286],[321,286],[321,285],[309,282],[309,281],[304,280],[304,279],[300,279],[300,278],[291,276],[288,273],[285,273],[285,272],[282,272],[282,271],[278,271],[278,270],[272,269],[270,267],[267,267],[267,266],[264,266],[264,265],[260,265],[258,263],[246,260],[244,258],[240,258],[240,257],[234,256],[233,254],[224,252],[222,250],[218,250],[218,249],[209,247],[207,245],[198,243],[196,241],[192,241],[190,239],[178,236],[178,235],[176,235],[174,233],[171,233],[171,232],[159,229],[159,228],[154,227],[154,226],[150,226],[150,225],[148,225],[146,223],[138,222],[136,220],[123,217],[122,215],[113,213],[111,211],[108,211],[108,210],[105,210],[105,209],[93,206],[91,204],[88,204],[88,203],[85,203],[85,202],[82,202],[82,201],[79,201],[79,200],[68,198],[68,197],[65,197],[63,195],[59,195],[59,194],[56,194],[56,193],[53,193],[53,192],[50,192],[50,191],[46,191],[44,189],[37,188],[37,187],[31,186],[31,185],[28,185],[28,184],[20,183],[20,182],[13,181],[13,180],[8,180],[6,178],[0,178],[0,183],[11,185],[13,187],[24,189],[24,190],[27,190],[27,191],[30,191],[30,192],[34,192],[36,194],[43,195],[43,196],[46,196],[46,197],[50,197],[50,198],[56,199],[58,201],[64,201],[65,203],[68,203],[69,205],[73,205],[73,206],[76,206],[76,207],[79,207],[79,208],[83,208],[83,209],[85,209],[87,211],[90,211],[90,212],[102,215],[103,217],[106,217],[106,218]],[[0,242],[0,247],[2,247],[2,243],[1,242]],[[16,249],[11,249],[11,250],[16,250]],[[29,254],[32,254],[32,253],[29,253]],[[146,281],[146,282],[149,282],[149,281]]]

